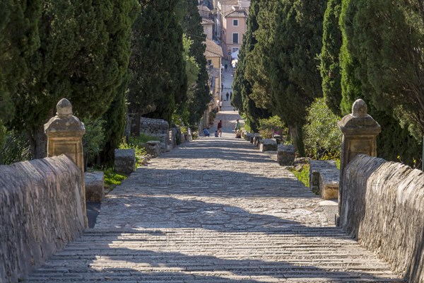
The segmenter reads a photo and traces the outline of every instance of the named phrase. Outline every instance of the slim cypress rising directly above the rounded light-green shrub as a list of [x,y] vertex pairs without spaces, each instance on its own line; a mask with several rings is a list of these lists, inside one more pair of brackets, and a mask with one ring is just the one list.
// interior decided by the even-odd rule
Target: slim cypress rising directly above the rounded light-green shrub
[[324,13],[320,69],[325,103],[336,115],[341,115],[341,70],[338,59],[342,42],[338,23],[340,13],[341,0],[329,0]]

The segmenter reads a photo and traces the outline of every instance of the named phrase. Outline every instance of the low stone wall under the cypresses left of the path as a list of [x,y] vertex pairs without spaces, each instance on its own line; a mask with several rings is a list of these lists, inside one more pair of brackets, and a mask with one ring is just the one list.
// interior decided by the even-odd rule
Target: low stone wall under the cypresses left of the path
[[168,150],[169,131],[170,126],[165,120],[141,117],[140,132],[142,134],[148,134],[151,137],[158,137],[160,139],[160,151],[162,152]]

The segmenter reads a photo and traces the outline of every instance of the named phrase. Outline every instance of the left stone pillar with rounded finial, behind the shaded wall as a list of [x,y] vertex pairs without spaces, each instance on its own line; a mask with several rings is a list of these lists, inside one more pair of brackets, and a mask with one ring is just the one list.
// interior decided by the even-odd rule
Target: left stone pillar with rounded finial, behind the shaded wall
[[86,212],[86,188],[84,184],[84,154],[83,135],[86,127],[72,115],[72,105],[66,98],[57,103],[56,116],[45,124],[47,134],[47,157],[66,154],[81,170],[82,191],[81,207],[83,207],[84,221],[88,227]]

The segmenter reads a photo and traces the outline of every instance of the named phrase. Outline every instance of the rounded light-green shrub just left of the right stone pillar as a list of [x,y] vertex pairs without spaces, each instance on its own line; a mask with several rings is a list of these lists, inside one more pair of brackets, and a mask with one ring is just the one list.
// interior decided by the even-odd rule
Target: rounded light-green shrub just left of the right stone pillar
[[[340,159],[341,131],[324,98],[317,98],[307,109],[307,124],[303,127],[307,153],[317,159]],[[326,157],[327,156],[327,157]]]

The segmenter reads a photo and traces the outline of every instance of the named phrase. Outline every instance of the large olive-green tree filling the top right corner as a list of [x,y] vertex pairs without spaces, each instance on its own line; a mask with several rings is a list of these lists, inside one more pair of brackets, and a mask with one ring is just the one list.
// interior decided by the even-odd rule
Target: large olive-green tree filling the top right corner
[[355,1],[346,29],[358,76],[375,108],[424,134],[424,8],[422,1]]

